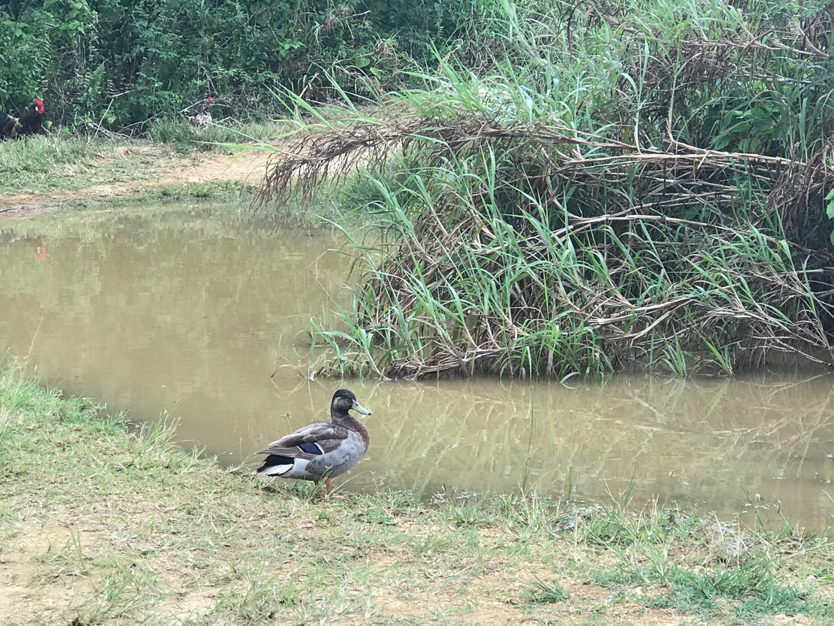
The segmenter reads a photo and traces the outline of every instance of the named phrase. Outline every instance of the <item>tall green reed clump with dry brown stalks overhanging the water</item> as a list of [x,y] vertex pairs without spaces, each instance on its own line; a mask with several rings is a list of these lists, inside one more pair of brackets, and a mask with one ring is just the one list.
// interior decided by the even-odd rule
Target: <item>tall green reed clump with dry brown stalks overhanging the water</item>
[[830,3],[506,2],[423,88],[304,109],[264,199],[361,166],[380,226],[343,327],[314,322],[334,368],[834,365],[832,27]]

